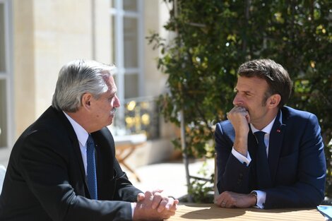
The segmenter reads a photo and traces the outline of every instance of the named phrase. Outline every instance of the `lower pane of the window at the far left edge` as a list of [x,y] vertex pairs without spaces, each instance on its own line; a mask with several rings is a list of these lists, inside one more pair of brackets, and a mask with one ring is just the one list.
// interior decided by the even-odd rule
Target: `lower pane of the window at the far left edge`
[[6,81],[0,80],[0,148],[7,146]]

